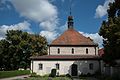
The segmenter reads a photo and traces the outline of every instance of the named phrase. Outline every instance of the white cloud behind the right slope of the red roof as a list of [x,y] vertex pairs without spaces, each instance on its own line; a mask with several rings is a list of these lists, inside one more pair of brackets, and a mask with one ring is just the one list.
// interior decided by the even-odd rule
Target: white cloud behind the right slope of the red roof
[[94,34],[89,34],[89,33],[84,33],[79,31],[79,33],[81,33],[82,35],[86,36],[86,37],[90,37],[91,39],[93,39],[93,41],[95,43],[97,43],[99,45],[99,47],[103,47],[103,37],[101,37],[98,33],[94,33]]

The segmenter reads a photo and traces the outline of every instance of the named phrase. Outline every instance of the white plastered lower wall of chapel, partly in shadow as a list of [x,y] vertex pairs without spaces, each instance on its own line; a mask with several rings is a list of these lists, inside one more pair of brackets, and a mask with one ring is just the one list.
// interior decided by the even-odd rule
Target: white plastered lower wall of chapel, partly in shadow
[[[95,71],[99,69],[99,62],[97,60],[79,60],[79,61],[33,61],[33,72],[37,73],[38,75],[46,75],[50,74],[53,68],[56,68],[56,63],[60,65],[60,69],[57,70],[59,75],[63,74],[70,74],[71,75],[71,65],[77,64],[78,66],[78,75],[81,73],[87,74],[91,73],[94,74]],[[89,64],[93,63],[93,70],[89,69]],[[39,64],[43,64],[43,70],[39,70]]]

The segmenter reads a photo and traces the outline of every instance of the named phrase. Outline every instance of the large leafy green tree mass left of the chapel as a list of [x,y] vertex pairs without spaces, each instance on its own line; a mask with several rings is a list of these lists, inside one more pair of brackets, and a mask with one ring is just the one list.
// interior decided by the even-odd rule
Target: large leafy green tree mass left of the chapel
[[0,41],[0,70],[26,69],[30,66],[31,56],[45,54],[45,37],[19,30],[7,31],[6,39]]

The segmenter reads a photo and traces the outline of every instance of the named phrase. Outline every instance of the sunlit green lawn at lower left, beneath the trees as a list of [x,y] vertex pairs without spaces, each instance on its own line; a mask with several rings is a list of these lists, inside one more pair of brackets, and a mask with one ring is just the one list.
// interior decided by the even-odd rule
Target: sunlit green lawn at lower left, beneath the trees
[[30,74],[30,70],[0,71],[0,78]]

